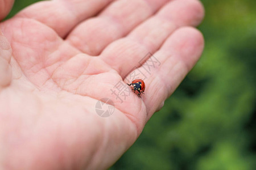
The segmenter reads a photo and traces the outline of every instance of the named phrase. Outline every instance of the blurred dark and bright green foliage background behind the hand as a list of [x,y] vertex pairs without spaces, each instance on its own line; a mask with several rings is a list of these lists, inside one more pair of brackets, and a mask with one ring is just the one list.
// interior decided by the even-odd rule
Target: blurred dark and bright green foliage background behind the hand
[[203,56],[110,169],[256,169],[256,1],[201,2]]

